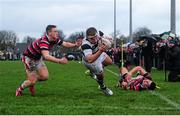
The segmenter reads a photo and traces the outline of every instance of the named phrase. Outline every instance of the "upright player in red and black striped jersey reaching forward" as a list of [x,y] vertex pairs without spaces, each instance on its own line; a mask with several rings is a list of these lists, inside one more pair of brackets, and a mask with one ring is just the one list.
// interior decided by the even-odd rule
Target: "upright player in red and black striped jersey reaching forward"
[[58,64],[67,64],[68,60],[63,58],[55,58],[49,54],[49,50],[54,45],[62,45],[67,48],[80,46],[81,42],[69,43],[63,41],[59,35],[55,25],[46,27],[46,35],[32,42],[23,54],[22,62],[24,63],[27,79],[16,89],[16,96],[22,96],[22,91],[29,87],[31,95],[35,94],[34,85],[37,81],[45,81],[48,79],[49,73],[43,59]]

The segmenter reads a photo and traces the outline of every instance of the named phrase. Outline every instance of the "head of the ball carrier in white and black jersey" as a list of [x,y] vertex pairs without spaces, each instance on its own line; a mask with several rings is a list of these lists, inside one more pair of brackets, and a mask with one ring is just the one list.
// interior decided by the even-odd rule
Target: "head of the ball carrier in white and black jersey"
[[98,33],[96,28],[94,27],[90,27],[86,30],[86,38],[88,39],[89,42],[91,42],[92,44],[95,44],[98,42]]

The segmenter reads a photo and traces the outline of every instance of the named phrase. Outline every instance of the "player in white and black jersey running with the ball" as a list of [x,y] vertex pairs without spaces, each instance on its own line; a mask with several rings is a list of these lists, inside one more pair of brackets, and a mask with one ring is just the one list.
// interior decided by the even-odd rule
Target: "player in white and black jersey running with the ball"
[[86,39],[81,49],[83,53],[83,64],[96,75],[96,81],[102,92],[106,95],[113,95],[113,92],[104,84],[103,67],[112,64],[112,59],[105,53],[107,46],[99,43],[100,36],[94,27],[86,30]]

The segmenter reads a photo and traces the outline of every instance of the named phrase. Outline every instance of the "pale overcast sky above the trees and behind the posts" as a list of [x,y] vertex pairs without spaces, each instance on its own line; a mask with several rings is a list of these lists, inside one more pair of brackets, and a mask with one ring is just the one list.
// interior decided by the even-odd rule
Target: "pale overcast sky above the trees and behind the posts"
[[[0,0],[0,30],[12,30],[20,40],[40,37],[48,24],[70,35],[95,26],[114,31],[114,0]],[[117,1],[117,30],[129,34],[129,0]],[[132,0],[133,31],[146,26],[153,33],[170,30],[170,0]],[[176,0],[176,33],[180,35],[180,0]]]

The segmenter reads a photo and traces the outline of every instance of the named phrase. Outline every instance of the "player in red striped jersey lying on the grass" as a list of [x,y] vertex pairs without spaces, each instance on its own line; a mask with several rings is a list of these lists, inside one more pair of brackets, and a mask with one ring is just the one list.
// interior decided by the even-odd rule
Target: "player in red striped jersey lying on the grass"
[[[132,78],[133,74],[139,72],[135,78]],[[152,81],[149,73],[147,73],[142,67],[137,66],[128,72],[127,68],[120,68],[121,78],[117,84],[118,87],[130,90],[154,90],[156,84]]]

